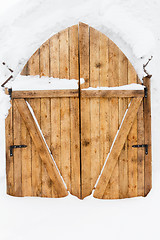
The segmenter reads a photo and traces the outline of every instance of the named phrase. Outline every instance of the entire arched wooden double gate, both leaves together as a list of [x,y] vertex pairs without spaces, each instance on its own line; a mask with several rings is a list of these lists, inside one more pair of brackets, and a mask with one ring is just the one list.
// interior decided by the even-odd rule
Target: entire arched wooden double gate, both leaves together
[[[52,173],[48,173],[14,103],[14,99],[23,99],[32,107],[71,194],[82,199],[92,192],[104,199],[147,195],[151,189],[149,79],[144,79],[146,98],[140,90],[87,90],[140,83],[131,63],[109,38],[79,23],[45,42],[21,74],[83,78],[85,82],[79,81],[75,92],[12,92],[12,108],[6,120],[8,194],[66,194],[63,184],[63,193],[56,194]],[[16,149],[11,158],[9,146],[16,144],[28,147]],[[147,155],[144,148],[132,147],[144,144],[148,145]]]

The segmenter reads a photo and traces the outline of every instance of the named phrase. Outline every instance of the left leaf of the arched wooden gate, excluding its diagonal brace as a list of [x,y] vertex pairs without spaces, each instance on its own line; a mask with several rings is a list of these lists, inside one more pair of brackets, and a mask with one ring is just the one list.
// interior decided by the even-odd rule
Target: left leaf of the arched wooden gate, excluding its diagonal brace
[[[78,79],[78,26],[66,29],[45,42],[40,49],[29,59],[24,67],[22,75],[40,75],[54,78]],[[75,93],[75,94],[74,94]],[[12,92],[13,106],[14,99],[24,99],[31,105],[43,136],[53,155],[56,165],[63,176],[67,190],[80,198],[80,137],[79,137],[79,97],[78,90],[74,91],[40,91],[37,94],[28,91]],[[13,109],[13,108],[12,108]],[[17,109],[13,109],[14,117]],[[17,113],[21,118],[20,113]],[[7,121],[10,121],[11,114]],[[17,122],[14,118],[13,122]],[[15,149],[14,156],[9,155],[9,145],[24,144],[21,138],[21,119],[20,126],[15,124],[12,128],[12,135],[16,136],[19,132],[18,141],[13,144],[7,143],[7,179],[8,193],[14,196],[42,196],[57,197],[53,181],[44,166],[39,151],[30,134],[27,135],[27,141],[31,141],[30,147],[26,149]],[[24,125],[24,124],[23,124]],[[8,126],[8,122],[6,123]],[[8,130],[10,131],[10,130]],[[24,130],[23,130],[24,131]],[[7,133],[7,135],[10,133]],[[13,136],[13,140],[14,140]],[[9,137],[7,136],[7,141]],[[6,141],[6,142],[7,142]],[[21,151],[30,152],[30,156],[22,156]],[[19,154],[19,155],[15,155]],[[18,164],[19,170],[16,170],[15,164]],[[12,162],[12,164],[11,164]],[[29,170],[23,162],[30,164]],[[13,167],[11,167],[13,165]],[[29,174],[25,176],[23,171]],[[19,191],[15,191],[15,179],[18,177]],[[29,178],[29,183],[24,186],[23,182]],[[11,187],[9,187],[11,186]],[[30,189],[27,191],[26,189]],[[24,190],[25,189],[25,190]],[[63,194],[62,194],[63,196]]]

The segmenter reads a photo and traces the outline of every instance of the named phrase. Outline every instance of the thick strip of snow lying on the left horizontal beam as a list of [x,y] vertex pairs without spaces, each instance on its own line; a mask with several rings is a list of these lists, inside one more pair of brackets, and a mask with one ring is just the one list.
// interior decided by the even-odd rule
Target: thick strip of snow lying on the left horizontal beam
[[[83,82],[83,79],[81,79]],[[78,89],[78,80],[59,79],[40,76],[18,75],[13,81],[9,81],[5,87],[12,90],[56,90],[56,89]]]

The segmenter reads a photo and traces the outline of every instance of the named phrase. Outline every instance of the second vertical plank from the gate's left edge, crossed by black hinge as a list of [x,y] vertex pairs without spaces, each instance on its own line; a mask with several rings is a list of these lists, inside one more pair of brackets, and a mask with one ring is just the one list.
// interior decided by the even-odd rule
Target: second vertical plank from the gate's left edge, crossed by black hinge
[[[21,116],[13,101],[14,145],[21,144]],[[14,196],[22,196],[22,149],[13,150],[14,157]]]

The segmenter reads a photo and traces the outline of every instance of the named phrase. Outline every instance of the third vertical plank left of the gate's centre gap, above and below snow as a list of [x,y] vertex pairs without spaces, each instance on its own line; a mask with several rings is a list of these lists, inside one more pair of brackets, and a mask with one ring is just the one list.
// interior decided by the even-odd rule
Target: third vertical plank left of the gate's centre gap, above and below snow
[[[59,34],[50,39],[50,76],[59,78]],[[61,124],[60,124],[60,98],[51,98],[51,152],[60,170],[61,160]],[[52,187],[52,197],[57,197]]]

